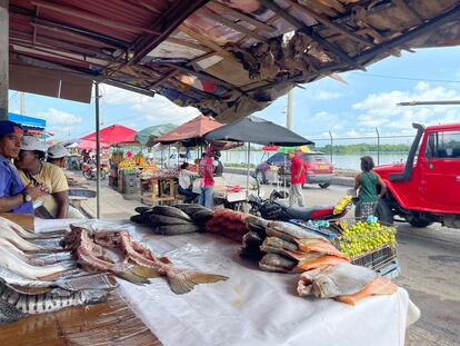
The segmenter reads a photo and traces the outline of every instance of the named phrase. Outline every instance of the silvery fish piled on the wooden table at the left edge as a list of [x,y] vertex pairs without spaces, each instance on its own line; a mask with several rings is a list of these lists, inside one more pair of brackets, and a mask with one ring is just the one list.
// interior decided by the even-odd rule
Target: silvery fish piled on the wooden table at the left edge
[[64,231],[36,235],[0,217],[0,324],[68,306],[104,301],[111,275],[77,269],[57,248]]

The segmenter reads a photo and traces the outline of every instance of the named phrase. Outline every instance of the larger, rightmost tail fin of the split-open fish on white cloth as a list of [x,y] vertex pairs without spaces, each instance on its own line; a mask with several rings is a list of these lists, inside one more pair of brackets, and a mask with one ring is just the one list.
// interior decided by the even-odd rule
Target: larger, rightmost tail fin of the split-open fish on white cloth
[[178,269],[167,271],[167,276],[171,290],[177,295],[189,293],[199,284],[213,284],[228,279],[227,276],[222,275]]

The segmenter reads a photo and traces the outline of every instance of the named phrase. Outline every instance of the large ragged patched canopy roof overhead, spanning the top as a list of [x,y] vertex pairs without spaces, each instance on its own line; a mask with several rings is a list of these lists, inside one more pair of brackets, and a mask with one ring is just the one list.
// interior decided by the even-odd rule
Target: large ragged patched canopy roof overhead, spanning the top
[[104,81],[222,122],[300,83],[460,43],[458,0],[10,0],[9,12],[11,89],[89,102]]

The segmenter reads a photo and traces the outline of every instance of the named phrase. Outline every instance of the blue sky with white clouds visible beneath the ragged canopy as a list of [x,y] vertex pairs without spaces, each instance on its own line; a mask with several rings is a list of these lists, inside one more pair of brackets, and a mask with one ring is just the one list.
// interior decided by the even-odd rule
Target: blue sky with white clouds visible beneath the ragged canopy
[[[459,122],[460,106],[396,107],[400,101],[460,99],[460,47],[421,49],[416,53],[387,58],[367,72],[340,75],[347,85],[331,78],[296,88],[293,130],[307,138],[360,137],[412,134],[411,122],[426,125]],[[391,76],[404,80],[381,78]],[[432,81],[443,80],[443,81]],[[447,82],[451,80],[457,82]],[[164,122],[182,123],[196,115],[193,108],[180,108],[162,97],[143,97],[102,86],[103,127],[120,123],[137,130]],[[284,125],[287,98],[282,97],[257,116]],[[10,90],[10,111],[19,112],[19,95]],[[26,115],[44,118],[54,139],[84,136],[94,129],[93,103],[66,101],[26,95]]]

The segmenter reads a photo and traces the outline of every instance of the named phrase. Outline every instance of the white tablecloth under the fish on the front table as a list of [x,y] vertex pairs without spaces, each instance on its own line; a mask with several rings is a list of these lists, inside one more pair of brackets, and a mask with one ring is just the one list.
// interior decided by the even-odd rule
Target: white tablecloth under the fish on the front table
[[[56,229],[67,223],[40,220],[36,228]],[[261,271],[253,263],[240,259],[238,245],[224,238],[203,234],[157,236],[132,226],[130,231],[177,266],[229,277],[179,296],[164,278],[142,287],[119,280],[121,294],[166,346],[404,344],[409,296],[403,288],[354,307],[331,299],[300,298],[296,295],[298,275]]]

